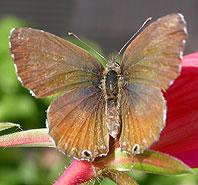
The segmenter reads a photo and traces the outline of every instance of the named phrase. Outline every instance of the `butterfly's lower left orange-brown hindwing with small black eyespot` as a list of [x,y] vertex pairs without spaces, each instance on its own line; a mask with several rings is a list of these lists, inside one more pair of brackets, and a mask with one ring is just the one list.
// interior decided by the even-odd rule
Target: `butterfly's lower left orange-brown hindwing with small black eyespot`
[[71,90],[55,99],[48,111],[56,146],[77,159],[93,160],[109,151],[105,102],[97,87]]

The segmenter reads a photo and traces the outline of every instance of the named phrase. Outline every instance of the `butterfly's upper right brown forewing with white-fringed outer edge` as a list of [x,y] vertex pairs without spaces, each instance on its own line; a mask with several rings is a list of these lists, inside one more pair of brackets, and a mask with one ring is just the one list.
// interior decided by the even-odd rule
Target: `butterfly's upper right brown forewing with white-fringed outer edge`
[[166,90],[180,72],[187,37],[185,26],[180,14],[172,14],[147,27],[123,55],[125,78]]

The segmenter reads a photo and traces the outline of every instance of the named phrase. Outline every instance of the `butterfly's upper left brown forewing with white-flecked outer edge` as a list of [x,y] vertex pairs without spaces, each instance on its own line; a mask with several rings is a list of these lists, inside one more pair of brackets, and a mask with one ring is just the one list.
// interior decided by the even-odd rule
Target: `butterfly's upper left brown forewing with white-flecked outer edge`
[[10,51],[22,84],[37,97],[98,84],[103,67],[88,52],[53,34],[16,28]]

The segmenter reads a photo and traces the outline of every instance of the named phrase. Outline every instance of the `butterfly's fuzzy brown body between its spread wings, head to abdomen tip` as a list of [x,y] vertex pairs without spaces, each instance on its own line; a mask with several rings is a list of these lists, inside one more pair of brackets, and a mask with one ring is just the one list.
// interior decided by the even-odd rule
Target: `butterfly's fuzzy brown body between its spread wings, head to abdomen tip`
[[120,133],[120,91],[123,86],[120,65],[115,60],[110,60],[104,70],[102,89],[105,95],[105,121],[109,135],[117,138]]

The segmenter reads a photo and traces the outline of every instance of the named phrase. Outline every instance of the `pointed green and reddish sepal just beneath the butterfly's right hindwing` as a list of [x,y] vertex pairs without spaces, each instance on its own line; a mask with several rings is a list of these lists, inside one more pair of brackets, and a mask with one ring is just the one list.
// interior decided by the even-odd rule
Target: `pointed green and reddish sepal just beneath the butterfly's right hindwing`
[[193,170],[179,159],[151,150],[132,157],[118,148],[107,157],[98,159],[94,162],[94,166],[119,171],[138,170],[160,175],[193,174]]

